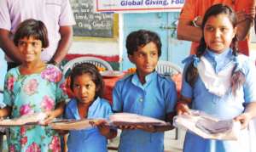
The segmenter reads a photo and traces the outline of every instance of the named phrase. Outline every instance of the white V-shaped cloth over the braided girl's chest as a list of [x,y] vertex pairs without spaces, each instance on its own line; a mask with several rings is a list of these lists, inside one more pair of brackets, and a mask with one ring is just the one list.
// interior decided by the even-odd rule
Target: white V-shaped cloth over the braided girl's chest
[[224,70],[215,73],[210,62],[205,57],[201,57],[197,70],[207,90],[222,97],[231,87],[231,75],[234,66],[234,62],[230,62]]

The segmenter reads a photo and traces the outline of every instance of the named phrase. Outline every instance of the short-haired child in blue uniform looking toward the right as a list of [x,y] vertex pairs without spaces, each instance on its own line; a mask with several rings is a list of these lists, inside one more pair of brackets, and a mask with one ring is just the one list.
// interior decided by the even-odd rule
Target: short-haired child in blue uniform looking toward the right
[[[172,121],[177,100],[175,83],[155,71],[161,54],[160,37],[152,31],[133,31],[126,39],[128,57],[136,73],[113,89],[113,110]],[[172,127],[119,127],[120,152],[163,152],[164,131]]]

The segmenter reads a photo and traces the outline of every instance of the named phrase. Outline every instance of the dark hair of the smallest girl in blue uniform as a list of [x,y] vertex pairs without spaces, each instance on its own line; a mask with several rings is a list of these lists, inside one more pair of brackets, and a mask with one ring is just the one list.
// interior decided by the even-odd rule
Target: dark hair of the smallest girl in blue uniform
[[96,96],[102,98],[104,82],[102,80],[102,75],[97,70],[96,65],[90,63],[79,63],[73,66],[70,73],[70,88],[73,90],[73,82],[77,76],[82,76],[83,74],[90,74],[92,82],[96,85]]

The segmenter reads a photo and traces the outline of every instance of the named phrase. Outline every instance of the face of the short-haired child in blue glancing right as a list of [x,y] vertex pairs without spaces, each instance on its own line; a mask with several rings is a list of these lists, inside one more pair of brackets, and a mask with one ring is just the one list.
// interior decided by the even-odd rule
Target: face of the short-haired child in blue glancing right
[[139,75],[147,76],[157,65],[158,49],[154,42],[148,42],[143,48],[138,48],[136,52],[129,55],[129,59],[136,65]]

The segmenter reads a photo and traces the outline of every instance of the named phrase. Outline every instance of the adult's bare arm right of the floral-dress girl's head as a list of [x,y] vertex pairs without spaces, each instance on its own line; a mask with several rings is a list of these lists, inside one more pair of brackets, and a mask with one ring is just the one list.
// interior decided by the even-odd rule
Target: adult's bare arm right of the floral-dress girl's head
[[72,25],[65,25],[60,27],[61,40],[58,44],[58,47],[55,51],[54,56],[51,60],[54,60],[56,63],[61,63],[61,60],[65,58],[68,49],[71,46],[73,40],[73,28]]

